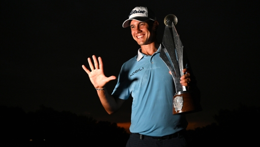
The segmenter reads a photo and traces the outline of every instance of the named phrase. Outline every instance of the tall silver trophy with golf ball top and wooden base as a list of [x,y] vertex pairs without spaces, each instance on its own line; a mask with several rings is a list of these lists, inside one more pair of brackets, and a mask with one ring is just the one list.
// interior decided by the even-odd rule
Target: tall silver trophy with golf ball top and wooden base
[[[177,24],[177,17],[169,14],[164,18],[164,34],[160,57],[171,72],[175,84],[176,94],[173,97],[173,114],[192,113],[202,110],[199,103],[199,96],[195,91],[188,91],[182,86],[180,78],[183,70],[183,45],[174,27]],[[172,29],[171,29],[172,28]],[[172,33],[171,33],[172,32]],[[167,54],[167,55],[166,55]]]

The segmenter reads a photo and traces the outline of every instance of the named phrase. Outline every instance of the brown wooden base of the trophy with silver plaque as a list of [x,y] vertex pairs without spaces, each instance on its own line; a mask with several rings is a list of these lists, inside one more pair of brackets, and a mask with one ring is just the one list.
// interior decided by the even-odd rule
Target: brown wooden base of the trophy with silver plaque
[[173,97],[172,114],[194,113],[201,110],[200,98],[195,91],[184,91]]

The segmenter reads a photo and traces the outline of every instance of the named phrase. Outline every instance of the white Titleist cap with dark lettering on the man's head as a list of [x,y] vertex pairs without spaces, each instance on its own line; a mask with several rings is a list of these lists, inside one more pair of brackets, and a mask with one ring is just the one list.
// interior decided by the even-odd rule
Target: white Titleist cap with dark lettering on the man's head
[[130,26],[131,20],[146,21],[148,19],[156,20],[154,12],[147,7],[137,6],[130,12],[129,19],[123,23],[123,28]]

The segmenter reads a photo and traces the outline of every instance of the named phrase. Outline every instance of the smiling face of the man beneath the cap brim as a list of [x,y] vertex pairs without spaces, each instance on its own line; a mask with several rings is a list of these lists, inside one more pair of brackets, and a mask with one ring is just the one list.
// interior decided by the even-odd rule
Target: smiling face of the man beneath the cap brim
[[155,31],[153,26],[149,26],[147,22],[132,20],[130,23],[131,34],[133,39],[139,45],[147,45],[155,41]]

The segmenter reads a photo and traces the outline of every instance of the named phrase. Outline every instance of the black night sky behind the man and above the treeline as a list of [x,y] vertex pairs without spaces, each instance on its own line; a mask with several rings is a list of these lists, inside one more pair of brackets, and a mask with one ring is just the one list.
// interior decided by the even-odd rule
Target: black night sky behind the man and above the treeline
[[[26,111],[40,105],[97,120],[130,122],[131,99],[108,115],[88,74],[87,58],[100,56],[106,76],[118,76],[137,54],[130,28],[135,6],[153,9],[162,41],[163,19],[176,26],[201,91],[203,111],[190,124],[214,122],[220,109],[260,106],[259,7],[253,0],[1,0],[0,105]],[[140,2],[141,1],[141,2]],[[111,93],[116,80],[107,84]]]

